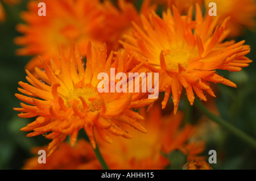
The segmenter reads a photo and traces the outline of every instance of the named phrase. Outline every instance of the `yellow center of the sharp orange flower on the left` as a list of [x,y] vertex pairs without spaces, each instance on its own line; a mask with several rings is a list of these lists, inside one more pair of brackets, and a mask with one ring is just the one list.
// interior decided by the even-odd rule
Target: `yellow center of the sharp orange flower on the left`
[[84,98],[90,112],[99,111],[101,109],[101,100],[98,96],[98,92],[91,86],[75,88],[73,91],[69,92],[69,94],[64,97],[65,106],[72,107],[72,101],[77,100],[79,101],[78,107],[83,111],[84,106],[82,105],[80,97]]

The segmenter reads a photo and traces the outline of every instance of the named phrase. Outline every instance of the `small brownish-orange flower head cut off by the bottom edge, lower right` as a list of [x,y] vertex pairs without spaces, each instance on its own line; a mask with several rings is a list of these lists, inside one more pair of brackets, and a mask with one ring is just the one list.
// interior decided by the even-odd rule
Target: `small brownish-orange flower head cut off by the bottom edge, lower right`
[[188,161],[184,167],[184,170],[212,170],[210,165],[200,158],[195,158]]

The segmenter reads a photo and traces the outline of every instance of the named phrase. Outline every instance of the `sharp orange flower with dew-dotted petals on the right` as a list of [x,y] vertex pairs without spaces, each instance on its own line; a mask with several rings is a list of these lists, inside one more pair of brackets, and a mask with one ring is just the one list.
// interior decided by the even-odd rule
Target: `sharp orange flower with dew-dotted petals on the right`
[[183,87],[191,105],[195,94],[207,101],[204,91],[214,96],[210,82],[236,87],[236,84],[218,75],[217,69],[240,71],[251,60],[245,41],[223,41],[228,35],[228,19],[217,26],[212,16],[203,18],[199,5],[196,19],[192,8],[188,15],[180,16],[176,7],[163,13],[163,19],[152,13],[150,20],[142,16],[143,27],[134,24],[134,36],[121,41],[130,54],[153,72],[159,72],[159,90],[164,91],[162,108],[172,93],[174,112],[177,112]]

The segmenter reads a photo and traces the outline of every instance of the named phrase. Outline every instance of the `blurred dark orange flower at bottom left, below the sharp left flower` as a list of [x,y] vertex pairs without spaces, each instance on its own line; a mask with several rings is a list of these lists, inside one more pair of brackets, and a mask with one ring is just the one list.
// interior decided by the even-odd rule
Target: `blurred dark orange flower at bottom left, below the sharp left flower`
[[[47,150],[47,146],[33,148],[32,153],[38,154],[39,150]],[[101,169],[92,146],[85,140],[78,140],[74,147],[67,142],[60,145],[58,154],[46,158],[46,163],[38,163],[38,155],[28,159],[23,166],[24,170],[74,170],[80,169]]]

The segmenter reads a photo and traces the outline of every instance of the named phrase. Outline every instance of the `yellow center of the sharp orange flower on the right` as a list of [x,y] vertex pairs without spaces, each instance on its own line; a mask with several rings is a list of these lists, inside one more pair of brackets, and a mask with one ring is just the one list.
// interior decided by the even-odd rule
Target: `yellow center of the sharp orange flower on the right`
[[177,48],[163,51],[167,68],[175,71],[179,69],[179,64],[182,65],[183,68],[187,68],[189,60],[195,58],[197,54],[197,50],[189,50],[188,48]]

